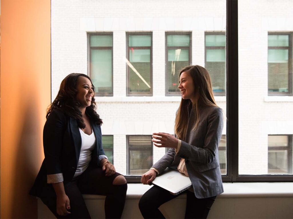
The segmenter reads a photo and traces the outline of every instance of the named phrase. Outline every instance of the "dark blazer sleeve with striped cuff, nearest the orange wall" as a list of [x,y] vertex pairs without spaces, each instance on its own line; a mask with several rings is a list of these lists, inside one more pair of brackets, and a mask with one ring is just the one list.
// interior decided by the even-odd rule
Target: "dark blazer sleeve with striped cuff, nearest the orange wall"
[[43,131],[43,145],[47,183],[63,182],[61,152],[66,118],[62,112],[53,110],[47,118]]

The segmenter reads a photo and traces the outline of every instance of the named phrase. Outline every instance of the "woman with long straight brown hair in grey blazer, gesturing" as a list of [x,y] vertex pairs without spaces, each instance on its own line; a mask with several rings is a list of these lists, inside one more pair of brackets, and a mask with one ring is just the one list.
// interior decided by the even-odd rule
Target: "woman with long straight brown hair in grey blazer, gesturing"
[[[223,113],[214,100],[207,69],[187,66],[179,77],[182,98],[175,118],[175,135],[153,133],[152,139],[155,146],[170,149],[142,175],[141,182],[150,184],[167,167],[177,169],[192,183],[186,191],[185,218],[207,218],[216,196],[224,192],[218,154]],[[140,199],[139,209],[144,218],[164,218],[159,206],[181,194],[172,195],[154,185]]]

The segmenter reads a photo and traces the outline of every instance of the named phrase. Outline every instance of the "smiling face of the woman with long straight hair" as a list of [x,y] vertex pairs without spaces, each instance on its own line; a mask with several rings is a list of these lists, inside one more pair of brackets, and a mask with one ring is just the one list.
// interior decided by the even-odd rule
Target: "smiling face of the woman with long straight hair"
[[182,99],[190,99],[191,101],[194,98],[194,85],[193,79],[187,72],[182,72],[179,79],[178,86]]

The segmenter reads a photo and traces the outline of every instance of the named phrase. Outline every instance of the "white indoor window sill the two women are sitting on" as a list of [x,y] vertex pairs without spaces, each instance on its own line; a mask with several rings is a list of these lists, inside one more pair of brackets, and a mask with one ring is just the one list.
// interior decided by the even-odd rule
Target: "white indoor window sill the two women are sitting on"
[[[224,193],[218,198],[264,198],[293,197],[293,183],[223,183]],[[127,189],[127,199],[140,199],[151,188],[149,185],[130,183]],[[105,199],[100,195],[83,195],[84,199]],[[180,197],[185,199],[186,195]]]

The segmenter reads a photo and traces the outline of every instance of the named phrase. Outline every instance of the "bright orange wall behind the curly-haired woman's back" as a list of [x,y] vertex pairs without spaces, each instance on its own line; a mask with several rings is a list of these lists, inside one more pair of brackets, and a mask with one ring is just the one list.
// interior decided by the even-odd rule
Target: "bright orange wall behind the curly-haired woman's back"
[[28,191],[50,104],[50,0],[1,0],[1,218],[36,218]]

